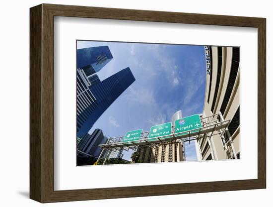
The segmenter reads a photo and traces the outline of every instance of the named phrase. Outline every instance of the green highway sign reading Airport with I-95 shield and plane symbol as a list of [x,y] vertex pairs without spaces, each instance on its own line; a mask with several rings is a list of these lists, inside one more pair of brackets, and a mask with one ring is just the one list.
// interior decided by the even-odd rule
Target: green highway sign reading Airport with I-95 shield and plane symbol
[[[180,118],[175,121],[175,134],[199,128],[202,128],[202,123],[199,114]],[[196,131],[198,130],[191,131],[191,133]],[[187,133],[181,133],[179,135],[184,135]]]

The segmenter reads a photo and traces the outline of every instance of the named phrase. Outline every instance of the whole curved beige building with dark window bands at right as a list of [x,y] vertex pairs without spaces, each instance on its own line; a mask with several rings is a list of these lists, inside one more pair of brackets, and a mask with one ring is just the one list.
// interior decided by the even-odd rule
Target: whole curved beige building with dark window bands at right
[[200,160],[240,158],[240,48],[205,46],[206,90],[203,117],[230,119],[228,131],[196,141]]

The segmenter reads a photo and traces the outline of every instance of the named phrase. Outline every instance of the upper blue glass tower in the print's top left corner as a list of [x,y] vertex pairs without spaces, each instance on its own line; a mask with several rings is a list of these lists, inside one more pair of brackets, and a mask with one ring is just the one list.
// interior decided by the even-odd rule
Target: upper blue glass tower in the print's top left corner
[[82,69],[87,77],[99,72],[112,59],[108,46],[77,49],[77,68]]

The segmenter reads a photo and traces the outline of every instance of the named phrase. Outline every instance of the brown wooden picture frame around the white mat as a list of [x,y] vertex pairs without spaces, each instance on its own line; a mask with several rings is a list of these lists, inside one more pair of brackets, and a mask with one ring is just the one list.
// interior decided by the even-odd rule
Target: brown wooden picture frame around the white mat
[[[258,28],[258,179],[54,191],[54,16]],[[30,199],[41,203],[266,188],[266,19],[40,4],[30,8]]]

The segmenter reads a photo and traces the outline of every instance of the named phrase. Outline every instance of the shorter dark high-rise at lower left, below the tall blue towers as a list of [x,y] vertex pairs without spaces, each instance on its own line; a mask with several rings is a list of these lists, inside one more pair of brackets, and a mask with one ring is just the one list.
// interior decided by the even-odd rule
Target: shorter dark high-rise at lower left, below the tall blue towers
[[101,129],[95,129],[92,134],[86,134],[77,145],[78,150],[88,155],[98,157],[102,151],[99,144],[105,144],[108,138],[103,135]]

